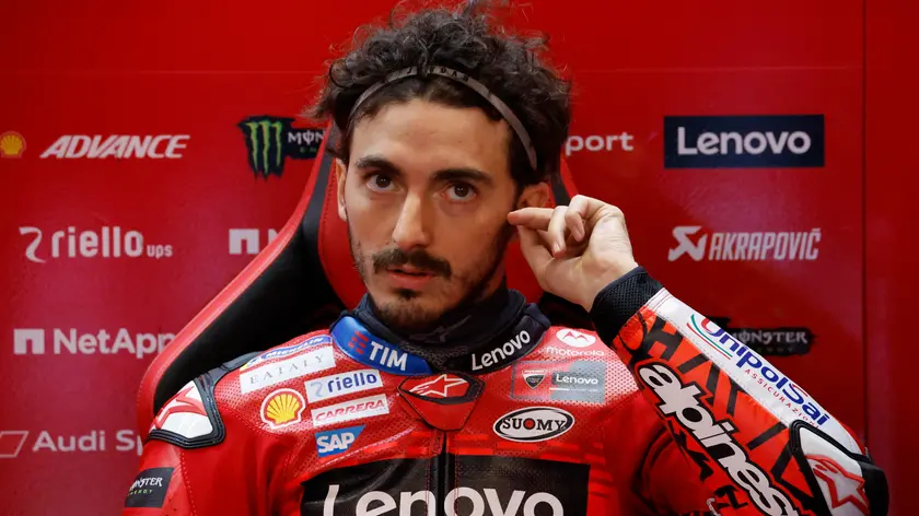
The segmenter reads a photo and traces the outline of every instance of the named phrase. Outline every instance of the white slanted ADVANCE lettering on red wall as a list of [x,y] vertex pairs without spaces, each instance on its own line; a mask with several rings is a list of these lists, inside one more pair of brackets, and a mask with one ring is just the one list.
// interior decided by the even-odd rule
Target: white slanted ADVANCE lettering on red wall
[[179,150],[185,149],[188,134],[159,136],[109,136],[103,139],[101,134],[68,134],[57,139],[51,146],[42,153],[42,159],[57,157],[58,160],[74,160],[88,157],[90,160],[105,160],[116,157],[149,157],[151,160],[178,160]]

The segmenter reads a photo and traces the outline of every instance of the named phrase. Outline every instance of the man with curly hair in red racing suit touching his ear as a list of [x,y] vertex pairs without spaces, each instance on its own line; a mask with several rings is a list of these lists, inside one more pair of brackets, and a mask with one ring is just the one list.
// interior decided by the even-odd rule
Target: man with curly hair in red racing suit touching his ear
[[[338,213],[368,295],[161,411],[125,514],[884,514],[807,392],[635,261],[623,213],[544,208],[568,84],[480,5],[415,13],[335,61]],[[507,290],[519,237],[547,292]]]

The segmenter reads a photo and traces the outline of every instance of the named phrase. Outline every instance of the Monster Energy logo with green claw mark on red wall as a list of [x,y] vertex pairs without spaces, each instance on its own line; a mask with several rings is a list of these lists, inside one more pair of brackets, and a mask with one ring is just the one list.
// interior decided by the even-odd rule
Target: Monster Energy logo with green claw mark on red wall
[[312,160],[319,152],[323,130],[294,128],[293,118],[256,116],[239,124],[248,150],[252,172],[264,178],[284,172],[287,157]]

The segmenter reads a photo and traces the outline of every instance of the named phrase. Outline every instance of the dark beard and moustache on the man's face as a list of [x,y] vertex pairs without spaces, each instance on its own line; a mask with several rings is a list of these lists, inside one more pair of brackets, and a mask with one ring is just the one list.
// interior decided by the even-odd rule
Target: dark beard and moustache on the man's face
[[[467,309],[486,297],[490,293],[486,292],[489,283],[504,261],[504,254],[513,235],[514,227],[505,223],[493,238],[492,244],[486,247],[487,256],[477,260],[469,270],[455,271],[447,260],[432,256],[422,248],[403,251],[395,247],[368,256],[360,243],[352,238],[351,224],[348,224],[351,258],[354,260],[364,285],[369,284],[370,274],[404,265],[410,265],[426,273],[440,277],[445,282],[443,289],[434,292],[421,293],[408,289],[397,289],[395,298],[392,301],[379,300],[368,289],[376,317],[387,328],[399,335],[430,331],[444,316]],[[372,270],[368,270],[368,265]],[[458,300],[452,303],[447,302],[447,298],[455,297],[457,290],[462,292]],[[434,304],[443,300],[443,304],[431,306],[423,303],[422,296],[430,297]]]

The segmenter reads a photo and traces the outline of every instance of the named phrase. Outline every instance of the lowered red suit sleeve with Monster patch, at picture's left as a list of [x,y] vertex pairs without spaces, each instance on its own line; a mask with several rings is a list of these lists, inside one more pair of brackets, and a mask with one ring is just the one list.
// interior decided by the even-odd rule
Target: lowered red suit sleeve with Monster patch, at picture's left
[[267,515],[276,448],[234,412],[219,411],[208,376],[199,377],[154,420],[123,515]]

